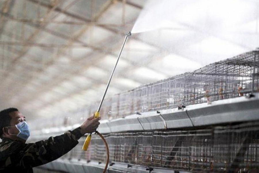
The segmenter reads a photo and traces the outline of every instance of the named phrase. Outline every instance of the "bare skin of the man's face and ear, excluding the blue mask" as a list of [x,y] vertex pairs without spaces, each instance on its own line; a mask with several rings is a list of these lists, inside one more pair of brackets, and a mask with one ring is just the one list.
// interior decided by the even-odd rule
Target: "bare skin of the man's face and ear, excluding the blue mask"
[[[12,118],[11,121],[10,121],[10,127],[8,127],[8,133],[9,134],[18,134],[19,133],[19,130],[15,127],[16,124],[19,124],[20,122],[22,121],[25,121],[25,116],[22,115],[21,112],[19,111],[14,111],[14,112],[11,112],[9,113],[9,116]],[[9,134],[6,134],[7,138],[10,138],[12,140],[21,140],[20,138],[18,138],[17,136],[15,135],[9,135]],[[24,142],[24,141],[23,141]]]

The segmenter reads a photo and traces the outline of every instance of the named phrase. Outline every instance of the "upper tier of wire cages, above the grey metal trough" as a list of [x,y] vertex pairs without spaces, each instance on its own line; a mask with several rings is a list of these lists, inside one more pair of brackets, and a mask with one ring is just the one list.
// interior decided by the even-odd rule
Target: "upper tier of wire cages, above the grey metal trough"
[[[117,119],[141,112],[249,95],[259,91],[258,76],[259,51],[247,52],[207,65],[193,73],[146,84],[104,99],[100,116],[102,119]],[[82,123],[97,110],[98,105],[94,103],[87,108],[62,114],[49,122],[42,121],[35,128]]]

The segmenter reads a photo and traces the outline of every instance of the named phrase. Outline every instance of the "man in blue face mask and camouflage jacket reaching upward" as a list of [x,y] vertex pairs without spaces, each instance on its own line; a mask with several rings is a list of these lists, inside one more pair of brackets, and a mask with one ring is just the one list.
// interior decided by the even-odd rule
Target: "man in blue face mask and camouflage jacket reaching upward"
[[0,172],[33,172],[33,167],[58,159],[78,144],[85,133],[96,131],[101,118],[90,116],[83,124],[60,136],[26,144],[30,128],[16,108],[0,112]]

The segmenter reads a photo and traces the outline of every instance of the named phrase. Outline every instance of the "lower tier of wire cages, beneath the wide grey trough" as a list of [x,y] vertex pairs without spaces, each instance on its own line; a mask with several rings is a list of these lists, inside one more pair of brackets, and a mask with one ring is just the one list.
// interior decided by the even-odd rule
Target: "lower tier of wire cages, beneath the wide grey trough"
[[[110,162],[149,168],[207,172],[257,172],[259,170],[259,122],[211,129],[117,133],[104,136]],[[93,135],[88,151],[85,138],[62,159],[106,162],[106,150]]]

